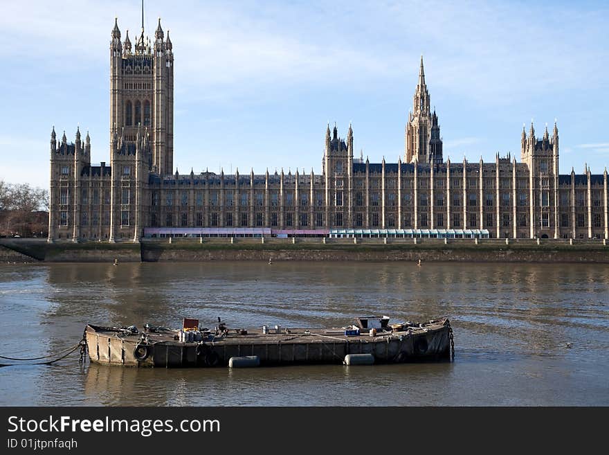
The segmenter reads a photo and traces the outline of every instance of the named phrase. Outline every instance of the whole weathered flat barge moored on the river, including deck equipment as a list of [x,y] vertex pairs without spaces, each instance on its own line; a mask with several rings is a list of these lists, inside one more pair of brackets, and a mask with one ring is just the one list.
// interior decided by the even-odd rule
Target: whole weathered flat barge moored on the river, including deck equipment
[[91,362],[116,366],[394,364],[454,357],[453,330],[446,318],[390,325],[387,316],[370,316],[330,329],[229,329],[218,319],[213,330],[199,327],[198,319],[184,319],[180,330],[89,324],[84,336]]

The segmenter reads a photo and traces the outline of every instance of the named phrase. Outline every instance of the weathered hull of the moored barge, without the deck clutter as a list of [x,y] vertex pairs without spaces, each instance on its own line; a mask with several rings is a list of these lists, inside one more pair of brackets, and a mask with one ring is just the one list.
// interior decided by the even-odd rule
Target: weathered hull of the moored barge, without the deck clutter
[[105,365],[188,368],[228,366],[231,357],[257,356],[260,365],[343,364],[346,355],[371,354],[375,364],[419,362],[451,358],[448,319],[433,327],[381,333],[376,337],[348,337],[293,329],[289,334],[229,335],[215,341],[158,341],[136,335],[122,336],[116,329],[87,325],[91,362]]

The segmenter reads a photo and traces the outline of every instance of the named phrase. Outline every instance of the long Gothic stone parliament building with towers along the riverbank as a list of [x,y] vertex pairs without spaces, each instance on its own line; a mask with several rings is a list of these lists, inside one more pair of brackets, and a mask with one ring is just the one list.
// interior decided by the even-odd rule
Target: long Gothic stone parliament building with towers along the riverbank
[[[469,236],[608,238],[607,171],[561,175],[558,127],[521,132],[520,161],[444,161],[423,58],[403,161],[354,157],[354,132],[328,125],[318,175],[174,172],[174,51],[161,20],[152,41],[124,39],[110,56],[109,163],[91,139],[51,132],[48,241],[138,242],[188,236]],[[413,81],[414,82],[414,81]],[[396,132],[397,133],[397,132]],[[518,132],[516,132],[518,134]],[[273,164],[273,168],[275,165]]]

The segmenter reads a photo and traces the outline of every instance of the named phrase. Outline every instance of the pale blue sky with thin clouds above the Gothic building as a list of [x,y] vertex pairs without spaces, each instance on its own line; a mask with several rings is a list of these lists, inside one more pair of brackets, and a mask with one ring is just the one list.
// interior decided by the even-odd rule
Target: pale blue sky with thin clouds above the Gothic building
[[[51,127],[109,161],[109,41],[140,2],[3,1],[0,179],[48,187]],[[181,173],[321,171],[327,122],[379,162],[403,155],[419,57],[444,157],[520,159],[522,124],[558,119],[561,173],[609,165],[609,3],[145,1],[175,55]]]

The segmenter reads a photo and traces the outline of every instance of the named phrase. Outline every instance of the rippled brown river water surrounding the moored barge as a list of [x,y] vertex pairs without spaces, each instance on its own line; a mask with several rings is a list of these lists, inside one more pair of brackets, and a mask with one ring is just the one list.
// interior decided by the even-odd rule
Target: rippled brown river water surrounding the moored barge
[[[86,323],[340,327],[448,316],[455,362],[388,366],[0,368],[0,405],[609,404],[609,266],[406,262],[0,265],[0,355],[78,343]],[[568,346],[570,347],[567,347]],[[10,363],[2,360],[2,363]]]

